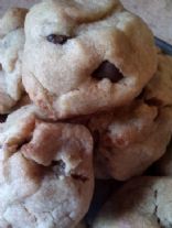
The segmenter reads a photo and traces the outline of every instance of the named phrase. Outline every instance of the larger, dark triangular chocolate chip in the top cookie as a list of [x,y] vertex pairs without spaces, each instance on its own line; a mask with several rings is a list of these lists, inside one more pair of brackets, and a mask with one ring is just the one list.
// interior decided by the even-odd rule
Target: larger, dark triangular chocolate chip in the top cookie
[[92,76],[98,80],[108,78],[111,83],[117,83],[123,78],[123,75],[119,69],[108,61],[104,61],[100,66],[92,74]]

